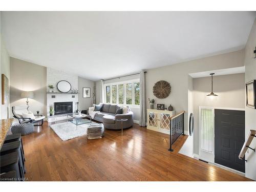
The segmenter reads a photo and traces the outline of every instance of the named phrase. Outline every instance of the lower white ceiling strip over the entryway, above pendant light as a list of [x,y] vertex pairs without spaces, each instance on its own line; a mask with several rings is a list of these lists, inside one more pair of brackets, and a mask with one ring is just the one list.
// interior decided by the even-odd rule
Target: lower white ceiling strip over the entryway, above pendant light
[[245,66],[214,71],[204,71],[199,73],[190,73],[189,75],[193,78],[210,77],[210,73],[215,73],[214,76],[245,73]]

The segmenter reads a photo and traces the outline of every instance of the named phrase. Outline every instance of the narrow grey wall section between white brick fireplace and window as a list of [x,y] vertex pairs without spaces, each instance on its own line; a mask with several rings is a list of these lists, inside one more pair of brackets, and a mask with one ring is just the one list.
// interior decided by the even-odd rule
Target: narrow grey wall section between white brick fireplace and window
[[[91,98],[82,97],[82,88],[91,88]],[[78,77],[78,102],[79,110],[87,110],[92,106],[94,81]]]

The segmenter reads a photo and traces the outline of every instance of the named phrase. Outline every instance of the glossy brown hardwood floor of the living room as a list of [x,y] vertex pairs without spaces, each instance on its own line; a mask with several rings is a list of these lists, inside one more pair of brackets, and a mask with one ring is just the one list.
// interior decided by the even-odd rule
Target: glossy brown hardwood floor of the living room
[[23,136],[29,181],[248,181],[249,179],[178,154],[187,136],[168,152],[168,135],[137,124],[106,130],[102,139],[62,141],[45,122]]

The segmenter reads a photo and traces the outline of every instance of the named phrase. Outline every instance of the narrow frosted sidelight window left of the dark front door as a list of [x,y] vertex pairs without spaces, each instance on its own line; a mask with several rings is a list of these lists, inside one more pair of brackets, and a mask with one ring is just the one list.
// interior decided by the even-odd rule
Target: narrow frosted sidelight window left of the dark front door
[[214,143],[214,110],[201,109],[201,150],[213,152]]

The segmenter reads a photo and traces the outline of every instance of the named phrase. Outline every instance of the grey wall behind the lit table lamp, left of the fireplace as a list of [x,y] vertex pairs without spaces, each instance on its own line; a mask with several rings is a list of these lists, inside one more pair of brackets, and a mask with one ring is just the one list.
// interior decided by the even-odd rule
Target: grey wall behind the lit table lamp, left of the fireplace
[[10,101],[11,106],[26,104],[22,91],[33,91],[29,99],[29,110],[46,116],[46,67],[10,57]]

